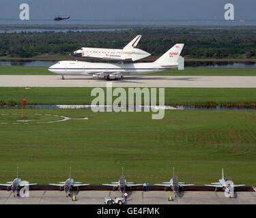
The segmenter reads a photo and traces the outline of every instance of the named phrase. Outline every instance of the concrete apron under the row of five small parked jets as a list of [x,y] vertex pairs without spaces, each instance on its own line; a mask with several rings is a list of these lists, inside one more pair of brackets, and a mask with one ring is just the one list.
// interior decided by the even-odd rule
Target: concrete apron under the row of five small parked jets
[[[0,204],[104,204],[104,197],[120,197],[119,191],[74,191],[77,201],[66,198],[63,191],[29,191],[20,198],[10,191],[0,191]],[[173,201],[169,202],[169,195]],[[223,191],[184,191],[175,198],[172,191],[129,191],[126,204],[256,204],[255,191],[237,191],[235,198],[225,197]]]

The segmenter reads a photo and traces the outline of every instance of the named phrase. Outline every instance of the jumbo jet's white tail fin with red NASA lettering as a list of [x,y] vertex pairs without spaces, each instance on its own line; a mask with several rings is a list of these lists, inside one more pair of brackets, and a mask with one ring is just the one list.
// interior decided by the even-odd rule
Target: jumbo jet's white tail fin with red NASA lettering
[[162,66],[169,66],[173,63],[177,63],[177,59],[180,57],[184,44],[175,44],[164,55],[155,61]]

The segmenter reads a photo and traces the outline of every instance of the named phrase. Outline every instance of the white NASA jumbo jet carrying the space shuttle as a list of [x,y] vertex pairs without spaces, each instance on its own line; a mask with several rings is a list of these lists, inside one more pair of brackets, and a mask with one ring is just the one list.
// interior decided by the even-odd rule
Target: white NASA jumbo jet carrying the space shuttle
[[85,61],[59,61],[48,68],[49,71],[62,75],[91,75],[94,79],[117,80],[124,76],[137,76],[160,72],[178,66],[184,44],[175,44],[164,55],[152,63],[91,63]]

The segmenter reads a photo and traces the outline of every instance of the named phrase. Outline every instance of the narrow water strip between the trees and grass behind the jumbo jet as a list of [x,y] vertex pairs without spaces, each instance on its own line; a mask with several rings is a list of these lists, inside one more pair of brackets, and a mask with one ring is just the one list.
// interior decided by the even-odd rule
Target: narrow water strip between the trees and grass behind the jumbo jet
[[[33,66],[33,67],[49,67],[57,61],[0,61],[0,65],[12,66]],[[100,61],[99,61],[100,62]],[[209,68],[256,68],[256,63],[233,63],[233,62],[212,62],[212,61],[190,61],[185,62],[185,67],[209,67]]]

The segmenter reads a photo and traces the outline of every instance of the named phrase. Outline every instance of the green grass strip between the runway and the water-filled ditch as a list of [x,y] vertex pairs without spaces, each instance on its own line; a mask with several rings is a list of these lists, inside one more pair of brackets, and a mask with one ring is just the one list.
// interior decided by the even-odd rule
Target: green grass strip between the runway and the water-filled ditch
[[[24,97],[28,104],[91,104],[91,100],[95,98],[91,97],[92,89],[0,87],[0,103],[20,104],[20,99]],[[256,89],[165,88],[166,105],[251,104],[252,102],[256,103]]]

